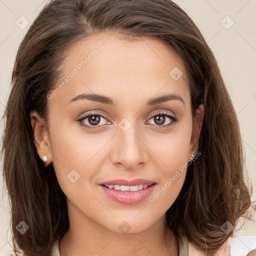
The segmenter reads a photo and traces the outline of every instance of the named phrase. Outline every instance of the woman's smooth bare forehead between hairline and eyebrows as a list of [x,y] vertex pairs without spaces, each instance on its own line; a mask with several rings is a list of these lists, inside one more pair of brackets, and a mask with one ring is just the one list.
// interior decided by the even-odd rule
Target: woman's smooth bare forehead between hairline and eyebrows
[[112,95],[117,101],[120,96],[137,100],[167,92],[189,97],[182,60],[158,39],[96,34],[72,45],[61,68],[58,84],[63,86],[54,98],[65,103],[85,92]]

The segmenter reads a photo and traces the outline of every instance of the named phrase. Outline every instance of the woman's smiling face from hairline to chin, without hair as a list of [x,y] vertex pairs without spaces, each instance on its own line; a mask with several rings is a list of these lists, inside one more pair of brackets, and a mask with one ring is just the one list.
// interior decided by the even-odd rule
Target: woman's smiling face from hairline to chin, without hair
[[40,157],[53,162],[77,218],[116,232],[148,228],[176,199],[197,150],[182,61],[157,40],[101,33],[75,44],[63,68],[62,86],[47,95]]

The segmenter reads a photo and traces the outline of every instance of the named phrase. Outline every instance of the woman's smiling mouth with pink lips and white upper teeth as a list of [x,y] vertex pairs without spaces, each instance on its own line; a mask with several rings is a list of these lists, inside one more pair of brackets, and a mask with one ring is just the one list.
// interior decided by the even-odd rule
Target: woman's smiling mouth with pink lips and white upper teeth
[[124,204],[134,204],[144,200],[150,195],[156,182],[146,179],[131,181],[115,179],[102,182],[101,189],[110,199]]

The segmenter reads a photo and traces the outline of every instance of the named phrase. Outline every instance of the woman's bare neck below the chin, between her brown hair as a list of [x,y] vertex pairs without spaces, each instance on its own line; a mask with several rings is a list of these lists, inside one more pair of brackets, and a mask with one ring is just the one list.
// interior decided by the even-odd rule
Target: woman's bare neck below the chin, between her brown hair
[[[59,245],[61,256],[73,255],[163,255],[178,256],[177,240],[161,216],[149,228],[136,233],[117,233],[72,208],[69,229]],[[165,242],[166,245],[165,245]]]

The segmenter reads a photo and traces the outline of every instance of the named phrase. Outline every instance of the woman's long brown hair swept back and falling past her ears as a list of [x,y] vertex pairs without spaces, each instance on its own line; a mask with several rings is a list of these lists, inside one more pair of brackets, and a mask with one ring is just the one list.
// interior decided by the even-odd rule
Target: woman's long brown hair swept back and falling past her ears
[[[170,0],[52,0],[41,10],[17,51],[4,112],[3,176],[11,206],[13,248],[48,256],[69,227],[66,197],[52,163],[45,167],[33,143],[29,113],[47,120],[47,93],[57,85],[66,50],[102,31],[127,38],[150,37],[183,60],[192,115],[204,105],[201,155],[187,168],[181,192],[166,216],[176,235],[209,250],[218,249],[250,206],[237,117],[214,55],[190,17]],[[15,228],[24,221],[29,229]]]

